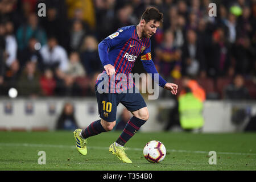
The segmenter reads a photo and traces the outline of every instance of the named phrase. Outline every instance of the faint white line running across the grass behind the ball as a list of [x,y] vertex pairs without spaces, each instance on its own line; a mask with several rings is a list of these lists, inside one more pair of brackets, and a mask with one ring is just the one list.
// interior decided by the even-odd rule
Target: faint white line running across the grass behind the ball
[[[16,146],[16,147],[49,147],[49,148],[75,148],[75,146],[59,145],[59,144],[35,144],[35,143],[0,143],[1,146]],[[99,147],[99,146],[88,146],[88,148],[98,149],[98,150],[108,150],[109,147]],[[129,150],[142,151],[142,148],[130,148]],[[166,150],[167,152],[183,152],[183,153],[195,153],[195,154],[208,154],[209,151],[190,151],[190,150]],[[256,155],[254,153],[237,153],[237,152],[217,152],[217,154],[227,154],[227,155]]]

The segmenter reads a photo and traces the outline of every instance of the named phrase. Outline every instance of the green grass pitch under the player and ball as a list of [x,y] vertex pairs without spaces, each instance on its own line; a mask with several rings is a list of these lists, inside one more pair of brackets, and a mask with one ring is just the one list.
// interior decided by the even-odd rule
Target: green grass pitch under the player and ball
[[[122,163],[110,154],[109,146],[121,131],[88,139],[88,154],[75,148],[72,131],[0,132],[0,170],[95,170],[95,171],[193,171],[256,170],[256,134],[142,133],[126,143],[132,164]],[[144,144],[159,140],[167,155],[151,164],[143,157]],[[39,165],[39,151],[46,152],[46,164]],[[209,151],[216,151],[217,164],[209,164]]]

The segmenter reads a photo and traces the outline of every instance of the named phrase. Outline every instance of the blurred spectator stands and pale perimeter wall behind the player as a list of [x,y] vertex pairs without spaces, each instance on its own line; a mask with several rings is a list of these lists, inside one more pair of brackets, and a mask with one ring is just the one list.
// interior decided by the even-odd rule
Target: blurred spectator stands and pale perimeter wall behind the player
[[[41,2],[45,17],[38,16]],[[210,2],[216,17],[208,15]],[[0,129],[55,130],[66,102],[80,127],[97,119],[94,83],[103,69],[97,45],[117,28],[138,24],[148,6],[164,14],[151,38],[152,60],[179,85],[178,96],[187,76],[203,88],[203,131],[244,131],[255,123],[255,1],[2,0]],[[143,72],[139,57],[133,73]],[[10,88],[18,97],[9,97]],[[142,131],[181,131],[177,96],[161,88],[158,100],[143,96],[151,117]]]

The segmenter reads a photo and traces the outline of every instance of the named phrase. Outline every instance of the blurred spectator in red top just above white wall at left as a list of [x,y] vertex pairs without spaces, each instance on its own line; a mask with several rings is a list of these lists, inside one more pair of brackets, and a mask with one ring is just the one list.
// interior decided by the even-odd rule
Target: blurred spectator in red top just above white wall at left
[[54,96],[56,81],[53,77],[51,69],[45,69],[43,75],[40,77],[40,87],[43,96]]

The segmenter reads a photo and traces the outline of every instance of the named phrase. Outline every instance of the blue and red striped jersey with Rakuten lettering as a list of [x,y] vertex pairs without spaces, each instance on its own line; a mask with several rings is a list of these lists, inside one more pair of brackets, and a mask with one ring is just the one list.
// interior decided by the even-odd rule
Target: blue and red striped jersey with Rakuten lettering
[[[98,45],[98,51],[102,65],[105,66],[107,64],[112,64],[115,68],[115,75],[118,73],[124,73],[127,76],[127,82],[129,81],[128,74],[131,73],[137,57],[141,56],[142,63],[143,61],[150,61],[148,63],[150,63],[150,65],[154,65],[150,53],[150,39],[144,37],[139,39],[135,25],[121,27],[116,32],[114,32],[114,34],[109,35]],[[143,66],[144,65],[145,64],[143,63]],[[151,70],[148,70],[147,72],[151,73]],[[106,71],[103,71],[101,74],[106,74]],[[101,78],[98,77],[96,80],[96,85],[98,85],[100,80]],[[117,82],[118,81],[115,81],[115,84],[117,84]],[[165,85],[165,83],[163,84]],[[127,88],[131,88],[133,86],[134,83],[133,85],[127,84]]]

